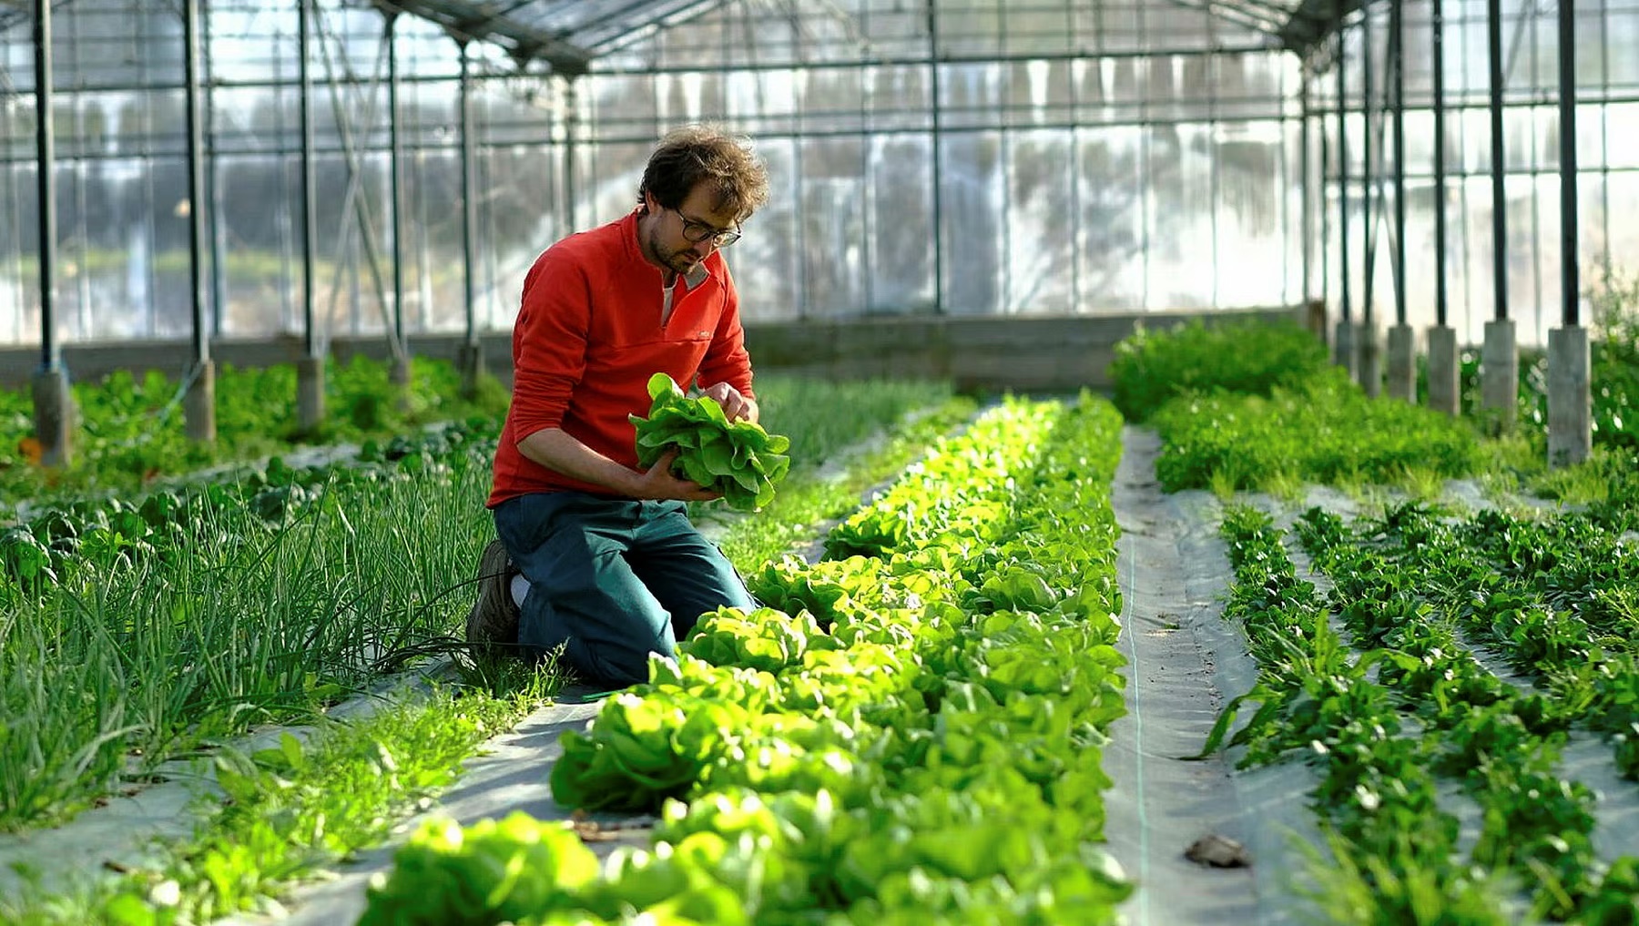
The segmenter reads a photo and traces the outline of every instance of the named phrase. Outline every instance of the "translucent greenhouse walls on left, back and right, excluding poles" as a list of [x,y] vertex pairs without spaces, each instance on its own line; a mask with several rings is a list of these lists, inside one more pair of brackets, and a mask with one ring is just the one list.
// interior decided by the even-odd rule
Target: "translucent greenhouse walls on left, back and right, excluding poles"
[[[1552,11],[1521,20],[1518,3],[1505,8],[1510,139],[1519,139],[1508,149],[1514,305],[1529,339],[1532,313],[1557,300],[1554,31]],[[56,10],[59,334],[184,338],[192,203],[177,7],[67,0]],[[1428,44],[1426,7],[1406,10],[1410,51]],[[226,336],[298,334],[295,3],[216,0],[208,11],[210,316]],[[336,0],[318,11],[308,59],[316,325],[325,336],[374,333],[388,325],[395,252],[387,20]],[[33,48],[26,20],[0,23],[10,23],[0,33],[0,343],[36,343]],[[1621,144],[1639,80],[1629,74],[1639,70],[1639,10],[1593,7],[1585,26],[1585,256],[1609,252],[1621,267],[1639,244],[1613,218],[1639,205],[1624,179],[1634,146]],[[461,52],[411,16],[398,16],[395,33],[405,328],[457,331],[467,293]],[[1336,298],[1336,182],[1328,220],[1314,215],[1303,231],[1296,59],[1205,11],[1134,0],[741,0],[602,34],[593,74],[579,79],[518,74],[493,46],[467,46],[480,328],[510,325],[543,247],[629,210],[656,138],[697,120],[751,134],[770,164],[774,197],[729,252],[752,318],[1293,303],[1305,257],[1311,295],[1324,285]],[[1454,320],[1472,318],[1472,334],[1488,316],[1490,287],[1483,3],[1447,0],[1447,36],[1451,169],[1467,172],[1452,182],[1449,274]],[[1357,177],[1357,28],[1349,41]],[[1382,75],[1382,25],[1373,48]],[[1408,280],[1413,310],[1428,316],[1426,52],[1408,54],[1406,77]],[[1329,75],[1316,79],[1311,105],[1334,107],[1333,89]],[[1336,131],[1336,120],[1310,128],[1318,177],[1319,131]],[[1351,185],[1355,300],[1360,190]],[[1385,318],[1393,302],[1380,234]]]

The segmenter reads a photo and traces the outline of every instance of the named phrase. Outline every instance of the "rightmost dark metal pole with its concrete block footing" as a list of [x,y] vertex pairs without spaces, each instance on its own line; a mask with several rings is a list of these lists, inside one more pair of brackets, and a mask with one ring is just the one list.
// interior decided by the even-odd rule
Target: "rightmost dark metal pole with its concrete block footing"
[[1577,7],[1559,0],[1559,270],[1562,326],[1549,331],[1547,462],[1570,465],[1593,452],[1588,329],[1580,323],[1577,210]]

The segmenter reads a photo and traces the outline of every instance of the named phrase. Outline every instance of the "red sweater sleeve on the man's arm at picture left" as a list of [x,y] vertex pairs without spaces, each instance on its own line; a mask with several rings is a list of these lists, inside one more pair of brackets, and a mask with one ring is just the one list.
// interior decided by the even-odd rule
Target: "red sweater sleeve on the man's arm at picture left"
[[592,290],[565,249],[549,249],[524,277],[513,328],[513,438],[559,428],[587,370]]

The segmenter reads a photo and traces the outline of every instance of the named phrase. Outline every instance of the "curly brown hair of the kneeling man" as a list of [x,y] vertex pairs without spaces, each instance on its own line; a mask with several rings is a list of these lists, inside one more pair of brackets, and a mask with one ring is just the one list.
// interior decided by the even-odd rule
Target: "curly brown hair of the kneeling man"
[[646,195],[664,208],[683,205],[700,184],[711,184],[718,211],[751,218],[769,202],[769,170],[751,148],[751,139],[718,128],[693,125],[672,129],[649,156],[638,185],[638,203]]

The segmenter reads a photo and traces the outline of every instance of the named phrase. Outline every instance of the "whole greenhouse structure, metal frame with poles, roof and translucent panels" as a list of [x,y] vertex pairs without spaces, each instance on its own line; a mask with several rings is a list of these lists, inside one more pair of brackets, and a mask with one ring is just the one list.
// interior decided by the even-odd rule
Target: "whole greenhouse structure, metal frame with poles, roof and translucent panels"
[[7,0],[0,34],[0,339],[48,457],[66,341],[190,341],[202,438],[220,338],[300,338],[305,416],[343,333],[479,369],[685,121],[775,177],[751,320],[1318,302],[1369,392],[1429,326],[1431,384],[1547,341],[1585,388],[1582,264],[1639,247],[1623,0]]

